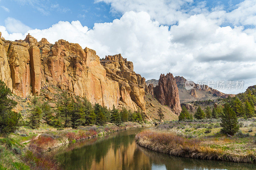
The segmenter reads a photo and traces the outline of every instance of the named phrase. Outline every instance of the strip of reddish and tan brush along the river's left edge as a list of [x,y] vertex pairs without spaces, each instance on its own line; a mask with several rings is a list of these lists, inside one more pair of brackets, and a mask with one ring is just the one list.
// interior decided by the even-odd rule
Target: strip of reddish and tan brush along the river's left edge
[[75,143],[92,137],[103,136],[116,131],[125,129],[153,126],[153,123],[124,122],[117,126],[110,123],[103,126],[87,126],[70,131],[58,130],[42,133],[37,139],[31,140],[29,148],[36,149],[39,152],[47,152],[63,144]]

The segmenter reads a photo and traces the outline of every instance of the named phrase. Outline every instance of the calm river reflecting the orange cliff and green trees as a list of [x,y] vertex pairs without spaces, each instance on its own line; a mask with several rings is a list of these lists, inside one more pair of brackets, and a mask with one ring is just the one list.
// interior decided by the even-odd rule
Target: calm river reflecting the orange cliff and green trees
[[54,157],[66,170],[247,170],[256,164],[174,157],[150,151],[135,143],[135,134],[145,128],[115,132],[103,137],[63,146]]

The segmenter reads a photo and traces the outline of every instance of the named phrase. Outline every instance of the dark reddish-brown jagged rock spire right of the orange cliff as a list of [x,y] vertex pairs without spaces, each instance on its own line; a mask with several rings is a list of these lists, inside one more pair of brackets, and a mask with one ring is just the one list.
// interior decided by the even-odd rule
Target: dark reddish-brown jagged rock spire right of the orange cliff
[[160,75],[158,85],[154,88],[154,95],[162,105],[167,105],[175,114],[180,114],[179,91],[176,80],[171,73],[166,76],[164,74]]

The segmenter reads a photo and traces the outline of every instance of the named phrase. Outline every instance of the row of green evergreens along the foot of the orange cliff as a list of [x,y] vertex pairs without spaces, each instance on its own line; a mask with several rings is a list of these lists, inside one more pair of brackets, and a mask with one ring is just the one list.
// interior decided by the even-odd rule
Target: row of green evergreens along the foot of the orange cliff
[[140,109],[131,111],[122,107],[118,110],[114,105],[112,109],[102,107],[99,103],[92,105],[86,98],[78,96],[71,98],[67,92],[62,93],[56,110],[53,110],[48,102],[40,105],[36,97],[32,103],[34,107],[28,117],[31,128],[38,128],[42,118],[56,128],[77,128],[90,124],[104,125],[106,122],[119,125],[122,122],[142,122],[145,119],[145,114]]

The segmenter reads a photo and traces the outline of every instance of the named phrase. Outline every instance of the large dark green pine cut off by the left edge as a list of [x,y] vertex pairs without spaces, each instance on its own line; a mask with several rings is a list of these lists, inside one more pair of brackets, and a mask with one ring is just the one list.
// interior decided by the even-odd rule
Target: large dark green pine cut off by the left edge
[[21,115],[13,112],[12,109],[17,102],[10,99],[11,90],[0,80],[0,134],[8,136],[19,128]]

